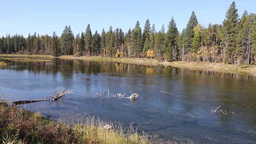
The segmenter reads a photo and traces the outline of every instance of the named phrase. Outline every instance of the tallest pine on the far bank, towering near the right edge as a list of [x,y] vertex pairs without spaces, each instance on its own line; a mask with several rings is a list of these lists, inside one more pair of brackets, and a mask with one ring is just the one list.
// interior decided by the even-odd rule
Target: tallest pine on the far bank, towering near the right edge
[[228,11],[226,12],[226,19],[223,21],[224,32],[226,32],[225,40],[225,63],[234,63],[234,52],[236,50],[236,36],[237,36],[237,22],[238,22],[238,9],[236,3],[232,2]]

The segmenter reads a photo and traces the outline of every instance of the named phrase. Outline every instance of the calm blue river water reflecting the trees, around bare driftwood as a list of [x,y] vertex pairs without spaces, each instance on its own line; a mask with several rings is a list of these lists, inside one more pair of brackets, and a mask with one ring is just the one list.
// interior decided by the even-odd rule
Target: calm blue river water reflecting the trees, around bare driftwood
[[[255,144],[255,86],[254,74],[89,60],[12,62],[0,69],[6,99],[44,99],[57,87],[75,90],[58,103],[23,105],[27,110],[66,122],[90,116],[124,127],[134,122],[146,134],[188,143]],[[141,99],[113,97],[135,92]],[[210,114],[218,106],[228,114]]]

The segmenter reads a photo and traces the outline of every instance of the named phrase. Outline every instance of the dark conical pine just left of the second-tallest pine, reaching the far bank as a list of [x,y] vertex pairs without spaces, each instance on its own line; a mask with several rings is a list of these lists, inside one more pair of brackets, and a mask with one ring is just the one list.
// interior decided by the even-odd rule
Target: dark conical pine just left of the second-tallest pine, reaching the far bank
[[176,27],[175,20],[172,17],[168,25],[168,31],[164,42],[164,54],[167,61],[176,60],[176,54],[178,53],[178,35],[178,28]]

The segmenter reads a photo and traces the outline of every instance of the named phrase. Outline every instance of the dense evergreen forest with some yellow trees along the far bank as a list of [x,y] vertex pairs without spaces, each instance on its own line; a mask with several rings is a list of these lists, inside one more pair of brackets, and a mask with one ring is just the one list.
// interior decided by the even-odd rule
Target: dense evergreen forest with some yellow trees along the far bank
[[51,36],[28,34],[2,36],[0,53],[4,54],[50,54],[53,56],[108,56],[129,58],[154,58],[160,61],[202,61],[230,64],[254,64],[256,61],[256,15],[245,11],[240,18],[235,2],[230,4],[222,24],[198,23],[192,12],[186,28],[180,33],[172,17],[165,32],[162,25],[156,31],[147,19],[144,29],[139,21],[134,28],[124,33],[121,28],[101,34],[92,34],[90,24],[85,32],[74,36],[71,27],[66,26],[61,34]]

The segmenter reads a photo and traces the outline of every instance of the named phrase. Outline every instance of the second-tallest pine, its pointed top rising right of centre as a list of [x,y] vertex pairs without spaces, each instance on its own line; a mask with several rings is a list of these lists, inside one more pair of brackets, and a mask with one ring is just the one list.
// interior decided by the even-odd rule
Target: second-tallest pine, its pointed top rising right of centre
[[189,18],[188,24],[186,26],[186,32],[185,32],[185,38],[184,38],[186,53],[191,52],[191,55],[192,55],[192,42],[194,38],[194,27],[196,27],[197,24],[198,24],[198,21],[196,18],[196,14],[193,11]]

